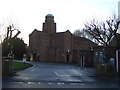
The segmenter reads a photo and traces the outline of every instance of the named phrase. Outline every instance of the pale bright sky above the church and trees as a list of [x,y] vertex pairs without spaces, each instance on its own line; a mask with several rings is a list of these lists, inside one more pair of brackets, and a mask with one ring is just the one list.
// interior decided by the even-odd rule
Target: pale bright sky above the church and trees
[[[57,32],[84,28],[93,18],[105,20],[118,14],[119,0],[0,0],[0,24],[13,23],[25,43],[34,29],[42,31],[45,16],[54,15]],[[1,28],[0,28],[1,29]],[[2,30],[2,29],[1,29]],[[0,31],[1,33],[2,31]]]

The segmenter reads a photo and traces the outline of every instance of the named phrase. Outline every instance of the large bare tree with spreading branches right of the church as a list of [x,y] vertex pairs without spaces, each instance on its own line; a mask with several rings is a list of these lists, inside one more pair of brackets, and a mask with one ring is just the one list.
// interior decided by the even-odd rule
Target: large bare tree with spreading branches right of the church
[[117,46],[119,47],[119,40],[116,32],[117,19],[113,16],[105,22],[98,22],[93,19],[90,23],[85,24],[85,32],[89,33],[97,42],[106,47],[106,61],[110,58],[109,44],[113,37],[117,39]]

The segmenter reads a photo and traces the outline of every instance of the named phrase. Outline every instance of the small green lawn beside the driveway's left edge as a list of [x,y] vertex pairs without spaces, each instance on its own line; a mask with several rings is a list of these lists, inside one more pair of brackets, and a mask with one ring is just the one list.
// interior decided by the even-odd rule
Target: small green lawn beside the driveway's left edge
[[23,69],[26,69],[26,68],[31,67],[31,66],[33,66],[33,65],[29,64],[29,63],[12,62],[13,71],[23,70]]

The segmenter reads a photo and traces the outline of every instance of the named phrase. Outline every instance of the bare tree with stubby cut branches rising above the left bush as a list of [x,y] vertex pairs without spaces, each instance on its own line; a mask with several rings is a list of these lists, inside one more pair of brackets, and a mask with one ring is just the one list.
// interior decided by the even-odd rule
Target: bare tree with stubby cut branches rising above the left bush
[[9,18],[7,19],[7,22],[3,24],[2,29],[0,29],[1,32],[1,43],[2,43],[2,51],[4,51],[7,47],[5,47],[3,44],[6,44],[10,47],[9,54],[12,55],[12,39],[16,38],[19,34],[19,28],[16,26],[17,24],[13,24],[13,19]]

